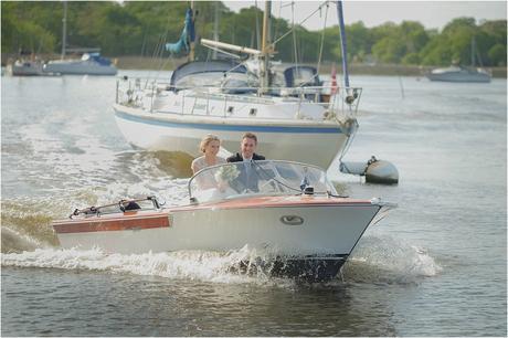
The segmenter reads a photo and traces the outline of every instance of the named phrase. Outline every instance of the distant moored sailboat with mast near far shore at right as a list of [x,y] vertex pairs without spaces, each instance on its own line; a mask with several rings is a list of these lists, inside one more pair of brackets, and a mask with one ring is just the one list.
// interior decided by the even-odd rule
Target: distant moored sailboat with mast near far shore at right
[[476,53],[476,43],[473,39],[472,41],[472,66],[465,67],[459,65],[452,65],[446,68],[436,68],[426,74],[430,81],[442,81],[442,82],[479,82],[488,83],[490,82],[490,73],[481,67],[475,66],[475,53]]

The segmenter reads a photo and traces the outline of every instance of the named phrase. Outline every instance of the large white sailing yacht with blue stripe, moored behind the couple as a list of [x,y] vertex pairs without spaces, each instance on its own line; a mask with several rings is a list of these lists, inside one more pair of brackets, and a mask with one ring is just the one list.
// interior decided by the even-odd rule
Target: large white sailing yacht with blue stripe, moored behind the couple
[[[340,6],[339,2],[343,33]],[[324,168],[341,158],[358,129],[356,114],[361,88],[349,87],[347,68],[345,86],[337,91],[325,86],[314,67],[275,66],[269,12],[271,1],[266,1],[260,50],[200,41],[222,54],[246,54],[248,59],[204,62],[193,60],[190,8],[181,40],[167,44],[167,50],[189,49],[191,60],[176,68],[169,81],[118,81],[114,110],[125,138],[137,148],[182,151],[197,157],[197,145],[205,134],[219,135],[222,147],[235,151],[242,135],[253,131],[258,136],[260,151],[267,158]],[[345,50],[345,39],[341,40]]]

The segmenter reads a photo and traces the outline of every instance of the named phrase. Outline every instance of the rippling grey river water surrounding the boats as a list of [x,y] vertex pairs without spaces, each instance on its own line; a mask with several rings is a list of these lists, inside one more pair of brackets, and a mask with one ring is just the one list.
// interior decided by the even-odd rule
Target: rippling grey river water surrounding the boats
[[178,158],[134,150],[119,134],[115,81],[1,80],[2,336],[507,335],[506,81],[351,78],[364,89],[346,159],[375,155],[401,179],[328,173],[352,197],[399,208],[366,232],[340,278],[314,285],[229,272],[248,247],[57,247],[50,222],[74,208],[186,199]]

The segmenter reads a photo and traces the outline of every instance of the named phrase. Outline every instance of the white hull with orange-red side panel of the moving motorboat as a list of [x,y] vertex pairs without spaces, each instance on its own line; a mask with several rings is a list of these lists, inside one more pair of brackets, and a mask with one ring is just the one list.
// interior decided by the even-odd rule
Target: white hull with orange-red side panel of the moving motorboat
[[236,266],[240,271],[261,264],[272,275],[322,281],[337,275],[381,208],[357,200],[251,198],[61,221],[53,226],[62,247],[100,247],[110,253],[227,253],[247,245],[269,260],[255,265],[243,261]]

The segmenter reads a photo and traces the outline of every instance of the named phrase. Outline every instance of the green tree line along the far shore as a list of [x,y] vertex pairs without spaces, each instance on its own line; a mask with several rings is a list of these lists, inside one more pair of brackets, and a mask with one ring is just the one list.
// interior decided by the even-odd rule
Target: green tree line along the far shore
[[[188,6],[187,1],[70,1],[67,46],[98,46],[107,56],[167,56],[163,45],[180,38]],[[235,13],[220,1],[197,1],[194,8],[198,36],[213,39],[214,20],[219,17],[220,41],[251,47],[260,44],[263,22],[260,9],[251,7]],[[330,10],[335,11],[335,4],[330,4]],[[59,54],[63,13],[61,1],[2,1],[2,54]],[[278,40],[292,29],[292,34],[277,42],[276,60],[315,63],[321,55],[322,62],[340,61],[337,25],[309,31],[274,18],[272,39]],[[477,24],[474,18],[457,18],[441,31],[425,29],[415,21],[388,22],[374,28],[367,28],[360,21],[347,25],[346,34],[348,57],[352,62],[468,65],[474,54],[476,64],[506,66],[506,20]],[[472,49],[473,43],[476,49]],[[198,46],[197,56],[210,57],[210,51]]]

